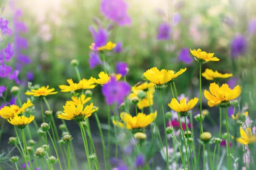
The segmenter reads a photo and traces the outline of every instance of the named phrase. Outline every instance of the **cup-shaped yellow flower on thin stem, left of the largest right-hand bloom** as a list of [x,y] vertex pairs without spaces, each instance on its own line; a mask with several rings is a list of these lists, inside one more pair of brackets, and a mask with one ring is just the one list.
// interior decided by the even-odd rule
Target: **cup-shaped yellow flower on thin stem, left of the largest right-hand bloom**
[[188,103],[186,103],[185,98],[181,99],[180,103],[177,101],[177,99],[172,98],[172,101],[168,105],[172,110],[178,112],[180,114],[180,116],[187,116],[188,115],[187,112],[190,109],[194,108],[194,106],[197,104],[197,102],[198,102],[197,97],[189,100]]

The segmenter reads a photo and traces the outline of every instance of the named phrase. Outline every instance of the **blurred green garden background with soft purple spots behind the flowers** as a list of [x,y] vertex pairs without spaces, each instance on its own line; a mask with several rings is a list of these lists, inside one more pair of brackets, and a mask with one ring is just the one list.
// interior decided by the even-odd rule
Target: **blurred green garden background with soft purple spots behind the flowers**
[[[251,114],[256,109],[253,106],[256,87],[255,0],[126,0],[130,21],[125,24],[113,22],[106,16],[101,10],[103,1],[106,0],[0,1],[0,7],[4,7],[1,17],[9,21],[9,28],[12,29],[10,37],[0,35],[0,49],[4,49],[8,42],[14,43],[15,55],[8,65],[20,71],[18,78],[21,91],[27,90],[27,82],[49,85],[59,91],[47,97],[52,110],[62,110],[70,94],[60,92],[58,85],[65,85],[69,78],[78,81],[70,65],[72,59],[79,60],[82,78],[97,77],[103,71],[101,65],[89,68],[89,45],[93,42],[89,26],[92,26],[96,30],[107,29],[108,40],[122,42],[122,51],[108,54],[106,60],[110,65],[126,62],[129,68],[126,79],[131,85],[142,81],[143,73],[151,67],[174,71],[186,67],[187,71],[175,79],[175,83],[178,94],[185,94],[189,98],[199,97],[199,63],[194,60],[189,49],[201,48],[215,53],[220,62],[204,64],[202,71],[210,68],[221,73],[232,73],[233,77],[221,83],[228,83],[232,88],[242,86],[240,111],[245,105],[249,106],[249,115],[255,119]],[[122,7],[112,4],[108,10],[118,14],[120,10],[116,8]],[[6,86],[8,83],[7,78],[0,79],[0,85]],[[202,77],[202,90],[208,89],[210,83]],[[12,85],[17,84],[12,82],[10,87]],[[21,98],[25,102],[23,92]],[[154,110],[160,109],[157,95],[154,97]],[[8,94],[8,97],[10,99],[11,95]],[[171,91],[167,88],[164,95],[166,112],[169,111],[167,102],[171,98]],[[206,99],[204,96],[202,98],[203,109],[209,109]],[[35,114],[40,115],[40,103],[34,103],[37,108]],[[93,89],[93,103],[100,108],[98,114],[101,122],[106,123],[106,105],[99,85]],[[233,113],[232,107],[229,110],[230,114]],[[130,108],[130,111],[134,112],[134,108]],[[198,111],[199,105],[192,114]],[[218,108],[209,111],[218,123]],[[40,118],[36,119],[40,122]],[[94,121],[93,116],[90,119]],[[59,124],[59,120],[56,121]],[[158,116],[157,122],[161,124],[161,121],[161,116]],[[68,124],[74,138],[79,138],[76,123],[69,121]],[[93,123],[91,126],[97,139],[98,128]],[[199,131],[197,122],[194,126]],[[211,131],[214,128],[216,132],[218,130],[217,126],[212,127],[209,120],[204,121],[203,127]],[[11,125],[6,125],[6,130],[10,128]],[[2,144],[7,145],[8,138],[9,134],[4,133],[1,149]],[[82,147],[82,140],[78,141]]]

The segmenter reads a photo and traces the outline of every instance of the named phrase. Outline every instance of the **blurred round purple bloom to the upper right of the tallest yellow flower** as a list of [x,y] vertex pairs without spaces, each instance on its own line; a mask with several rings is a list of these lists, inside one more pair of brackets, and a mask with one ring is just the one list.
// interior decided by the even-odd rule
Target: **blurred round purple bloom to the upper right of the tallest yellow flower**
[[240,35],[237,34],[233,39],[231,40],[231,57],[238,57],[246,51],[247,48],[247,41],[246,39]]

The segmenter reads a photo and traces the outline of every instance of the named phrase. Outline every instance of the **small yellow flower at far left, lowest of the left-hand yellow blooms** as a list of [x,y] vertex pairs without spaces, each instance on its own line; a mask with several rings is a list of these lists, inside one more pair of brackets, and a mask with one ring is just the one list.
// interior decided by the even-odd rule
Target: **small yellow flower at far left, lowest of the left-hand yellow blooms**
[[12,125],[17,126],[19,129],[23,129],[26,127],[27,124],[32,122],[35,119],[35,116],[30,115],[30,117],[26,116],[14,116],[8,119],[8,122]]

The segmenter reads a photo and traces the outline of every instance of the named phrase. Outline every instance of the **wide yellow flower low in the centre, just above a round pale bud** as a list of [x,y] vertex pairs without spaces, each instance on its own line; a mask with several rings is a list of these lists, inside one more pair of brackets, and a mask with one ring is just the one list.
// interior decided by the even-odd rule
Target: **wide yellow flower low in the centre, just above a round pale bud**
[[119,126],[121,128],[126,129],[137,129],[144,128],[154,122],[154,119],[157,118],[157,111],[154,113],[150,113],[149,115],[145,115],[144,113],[138,113],[137,116],[132,117],[128,113],[122,112],[120,117],[124,123],[116,122],[113,120],[113,124]]

